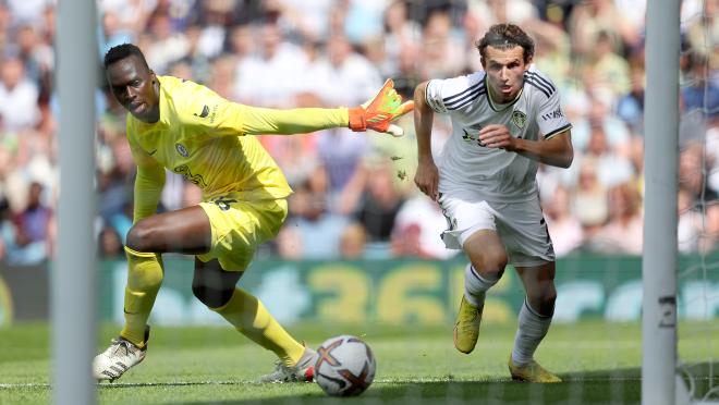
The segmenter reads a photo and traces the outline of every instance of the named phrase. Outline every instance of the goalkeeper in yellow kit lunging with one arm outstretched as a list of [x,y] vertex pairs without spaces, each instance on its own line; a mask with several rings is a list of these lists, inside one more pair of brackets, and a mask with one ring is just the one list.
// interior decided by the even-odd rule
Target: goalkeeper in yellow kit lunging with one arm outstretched
[[[412,110],[387,81],[356,108],[270,110],[230,102],[209,88],[158,76],[143,52],[124,44],[105,56],[110,89],[127,114],[137,164],[133,226],[127,233],[125,324],[95,357],[94,376],[113,381],[145,358],[147,319],[162,283],[162,253],[192,254],[194,295],[237,331],[278,357],[261,382],[308,381],[316,353],[294,340],[253,295],[236,287],[257,246],[275,237],[292,193],[255,134],[300,134],[330,127],[402,135],[391,121]],[[203,202],[156,213],[164,169],[203,189]]]

